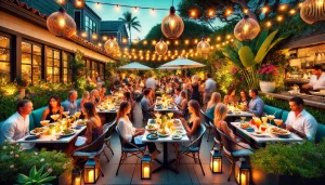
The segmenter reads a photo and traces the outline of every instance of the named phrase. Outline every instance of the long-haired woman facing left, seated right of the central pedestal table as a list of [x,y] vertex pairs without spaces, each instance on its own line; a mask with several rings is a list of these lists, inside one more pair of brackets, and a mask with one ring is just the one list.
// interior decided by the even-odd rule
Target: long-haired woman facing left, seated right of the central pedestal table
[[188,113],[191,114],[191,118],[188,123],[184,118],[181,118],[181,121],[190,136],[190,140],[195,140],[197,137],[198,128],[200,127],[200,106],[197,101],[192,100],[188,102]]

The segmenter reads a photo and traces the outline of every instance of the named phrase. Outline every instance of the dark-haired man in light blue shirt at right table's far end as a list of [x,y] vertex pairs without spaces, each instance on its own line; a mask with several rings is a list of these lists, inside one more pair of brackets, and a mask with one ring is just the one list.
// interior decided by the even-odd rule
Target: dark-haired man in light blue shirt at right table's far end
[[264,109],[264,102],[259,97],[257,89],[249,90],[249,96],[251,100],[248,103],[248,107],[243,107],[243,110],[248,110],[257,117],[262,117]]

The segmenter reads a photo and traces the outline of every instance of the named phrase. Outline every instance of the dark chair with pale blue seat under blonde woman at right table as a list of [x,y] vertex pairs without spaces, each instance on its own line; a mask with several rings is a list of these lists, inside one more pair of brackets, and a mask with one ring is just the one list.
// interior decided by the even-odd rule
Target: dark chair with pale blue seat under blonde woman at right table
[[[235,162],[237,160],[239,160],[239,158],[242,158],[242,157],[248,158],[251,154],[253,154],[255,150],[251,149],[251,148],[247,148],[245,146],[242,146],[236,141],[234,141],[232,137],[230,137],[224,132],[222,132],[219,128],[217,128],[217,127],[214,127],[214,128],[220,133],[221,141],[222,141],[222,144],[223,144],[223,154],[225,155],[225,157],[231,162],[230,174],[229,174],[229,177],[227,177],[227,181],[230,181],[233,168],[235,168]],[[235,150],[235,149],[233,149],[233,145],[237,145],[243,149]]]

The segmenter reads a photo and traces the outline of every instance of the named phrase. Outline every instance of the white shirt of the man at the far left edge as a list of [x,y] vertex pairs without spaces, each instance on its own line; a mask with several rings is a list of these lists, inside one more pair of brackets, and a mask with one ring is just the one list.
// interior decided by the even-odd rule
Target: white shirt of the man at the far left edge
[[[0,145],[4,141],[14,142],[26,135],[29,135],[29,115],[23,118],[17,111],[9,117],[1,128]],[[30,149],[35,144],[24,145],[26,149]]]

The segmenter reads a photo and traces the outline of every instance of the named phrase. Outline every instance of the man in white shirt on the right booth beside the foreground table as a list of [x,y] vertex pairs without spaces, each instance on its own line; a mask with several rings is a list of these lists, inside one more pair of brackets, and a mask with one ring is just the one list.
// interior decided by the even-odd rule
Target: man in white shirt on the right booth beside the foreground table
[[[295,96],[289,100],[291,111],[285,122],[288,131],[296,133],[302,138],[315,142],[317,121],[313,116],[303,109],[303,100]],[[284,127],[284,124],[283,124]]]

